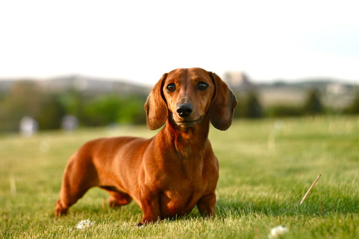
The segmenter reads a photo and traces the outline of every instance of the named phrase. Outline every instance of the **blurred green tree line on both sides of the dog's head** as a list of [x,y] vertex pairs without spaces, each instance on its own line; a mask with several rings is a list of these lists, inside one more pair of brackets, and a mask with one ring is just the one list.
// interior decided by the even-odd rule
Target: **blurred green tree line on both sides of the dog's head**
[[[264,108],[258,94],[236,93],[238,106],[235,118],[297,117],[318,114],[359,114],[359,93],[343,111],[324,107],[318,90],[309,90],[302,106],[275,105]],[[39,129],[58,129],[61,120],[72,115],[80,126],[109,124],[144,124],[144,103],[141,94],[86,94],[75,89],[45,93],[33,82],[18,82],[6,93],[0,94],[0,131],[18,130],[19,121],[27,116],[38,122]]]

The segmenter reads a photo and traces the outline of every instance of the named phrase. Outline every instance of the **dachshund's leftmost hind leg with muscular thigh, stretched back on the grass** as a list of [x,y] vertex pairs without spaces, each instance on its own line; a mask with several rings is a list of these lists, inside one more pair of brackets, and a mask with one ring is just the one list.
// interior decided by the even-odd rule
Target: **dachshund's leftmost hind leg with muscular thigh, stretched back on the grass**
[[98,176],[91,160],[72,157],[65,169],[60,199],[56,202],[55,216],[65,215],[90,188],[98,185]]

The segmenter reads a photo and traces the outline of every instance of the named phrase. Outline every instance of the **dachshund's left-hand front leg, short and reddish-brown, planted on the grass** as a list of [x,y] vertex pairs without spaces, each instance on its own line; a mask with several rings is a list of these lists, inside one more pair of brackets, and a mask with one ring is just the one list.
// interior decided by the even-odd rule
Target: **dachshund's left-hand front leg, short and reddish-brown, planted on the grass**
[[143,216],[139,225],[150,224],[161,220],[160,193],[144,192],[141,196]]

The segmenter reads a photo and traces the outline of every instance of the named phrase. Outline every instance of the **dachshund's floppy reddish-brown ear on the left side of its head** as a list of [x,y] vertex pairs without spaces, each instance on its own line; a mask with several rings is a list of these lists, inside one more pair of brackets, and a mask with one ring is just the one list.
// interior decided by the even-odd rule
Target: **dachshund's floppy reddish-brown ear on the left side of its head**
[[151,130],[160,128],[168,117],[167,103],[162,90],[166,77],[167,73],[157,82],[145,103],[147,126]]

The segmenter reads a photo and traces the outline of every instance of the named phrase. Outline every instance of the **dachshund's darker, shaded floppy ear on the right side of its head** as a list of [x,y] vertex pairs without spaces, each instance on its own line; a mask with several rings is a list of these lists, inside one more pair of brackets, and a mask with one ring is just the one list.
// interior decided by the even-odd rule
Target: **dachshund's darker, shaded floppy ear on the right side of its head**
[[237,106],[238,101],[231,89],[219,76],[212,72],[209,72],[209,74],[215,86],[209,107],[209,119],[215,128],[227,130],[232,124],[234,108]]

